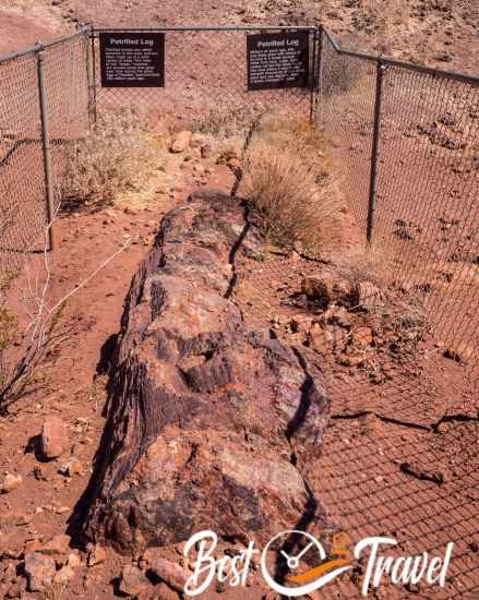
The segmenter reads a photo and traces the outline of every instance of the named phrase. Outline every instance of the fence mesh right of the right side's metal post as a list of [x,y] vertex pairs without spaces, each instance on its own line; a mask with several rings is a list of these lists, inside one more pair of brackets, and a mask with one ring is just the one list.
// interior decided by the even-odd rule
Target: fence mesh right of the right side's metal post
[[424,295],[438,339],[478,344],[479,88],[387,67],[373,244]]

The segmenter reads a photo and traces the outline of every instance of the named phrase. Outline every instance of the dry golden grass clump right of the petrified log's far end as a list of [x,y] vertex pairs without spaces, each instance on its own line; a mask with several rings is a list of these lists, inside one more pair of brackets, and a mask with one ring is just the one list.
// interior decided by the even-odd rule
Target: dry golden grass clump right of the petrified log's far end
[[315,253],[337,229],[324,149],[321,132],[300,121],[271,121],[253,136],[242,193],[275,244]]

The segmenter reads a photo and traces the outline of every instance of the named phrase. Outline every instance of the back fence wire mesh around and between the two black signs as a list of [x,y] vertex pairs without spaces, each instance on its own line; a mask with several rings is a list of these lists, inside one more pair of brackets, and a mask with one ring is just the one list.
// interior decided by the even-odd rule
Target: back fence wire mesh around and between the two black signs
[[[132,106],[151,119],[169,116],[177,122],[209,130],[236,124],[248,127],[265,112],[308,119],[312,96],[309,88],[248,92],[246,36],[260,32],[254,28],[247,32],[166,31],[165,87],[98,87],[97,113]],[[311,31],[311,62],[313,57],[314,31]],[[99,80],[99,69],[96,37],[96,81]]]

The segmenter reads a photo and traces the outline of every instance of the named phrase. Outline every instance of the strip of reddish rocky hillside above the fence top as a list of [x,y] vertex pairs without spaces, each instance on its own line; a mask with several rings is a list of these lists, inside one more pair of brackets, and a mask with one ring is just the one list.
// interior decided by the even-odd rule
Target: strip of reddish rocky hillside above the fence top
[[470,0],[10,0],[0,7],[0,51],[79,22],[111,25],[319,24],[347,45],[477,73],[479,5]]

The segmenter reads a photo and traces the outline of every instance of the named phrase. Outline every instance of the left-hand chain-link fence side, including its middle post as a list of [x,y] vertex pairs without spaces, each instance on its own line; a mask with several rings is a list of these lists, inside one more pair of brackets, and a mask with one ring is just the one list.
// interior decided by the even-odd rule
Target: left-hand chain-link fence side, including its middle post
[[[0,281],[44,251],[62,148],[88,123],[88,29],[0,59]],[[51,242],[51,240],[50,240]]]

